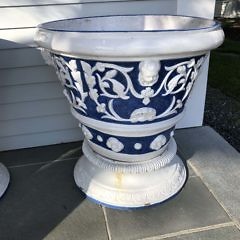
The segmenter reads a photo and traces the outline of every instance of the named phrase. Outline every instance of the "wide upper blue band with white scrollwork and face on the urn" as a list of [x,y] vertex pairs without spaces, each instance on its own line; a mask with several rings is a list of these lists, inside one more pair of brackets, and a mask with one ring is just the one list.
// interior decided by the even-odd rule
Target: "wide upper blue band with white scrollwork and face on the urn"
[[51,53],[64,93],[79,114],[128,125],[182,112],[204,57],[100,62]]

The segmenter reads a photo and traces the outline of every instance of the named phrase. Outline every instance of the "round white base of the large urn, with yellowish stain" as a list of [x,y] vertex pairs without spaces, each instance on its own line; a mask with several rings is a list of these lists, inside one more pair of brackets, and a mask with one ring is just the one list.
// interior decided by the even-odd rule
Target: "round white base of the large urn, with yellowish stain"
[[186,168],[175,155],[172,139],[166,151],[148,161],[126,163],[104,158],[83,145],[74,169],[76,184],[90,199],[107,207],[147,207],[176,195],[186,181]]

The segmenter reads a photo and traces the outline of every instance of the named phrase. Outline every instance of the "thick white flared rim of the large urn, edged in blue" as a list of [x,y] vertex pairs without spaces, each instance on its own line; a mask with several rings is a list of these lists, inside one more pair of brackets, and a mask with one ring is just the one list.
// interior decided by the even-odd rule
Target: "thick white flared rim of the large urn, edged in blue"
[[43,48],[86,58],[181,57],[222,44],[220,23],[180,15],[111,15],[63,19],[37,27]]

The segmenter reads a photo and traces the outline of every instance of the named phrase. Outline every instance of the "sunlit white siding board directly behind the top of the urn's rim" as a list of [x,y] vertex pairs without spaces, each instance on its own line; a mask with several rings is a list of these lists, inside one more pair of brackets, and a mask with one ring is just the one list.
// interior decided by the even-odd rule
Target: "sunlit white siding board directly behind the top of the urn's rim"
[[[171,6],[171,0],[137,0],[122,2],[102,2],[72,5],[48,5],[19,8],[0,8],[0,29],[6,28],[28,28],[37,24],[61,18],[75,18],[85,16],[107,15],[107,14],[131,14],[131,13],[159,13],[160,2],[164,7]],[[136,5],[137,4],[137,5]],[[136,7],[137,6],[137,7]],[[173,10],[173,9],[170,9]],[[163,13],[163,12],[162,12]],[[11,16],[11,21],[9,21]]]

